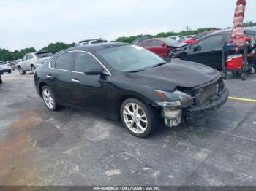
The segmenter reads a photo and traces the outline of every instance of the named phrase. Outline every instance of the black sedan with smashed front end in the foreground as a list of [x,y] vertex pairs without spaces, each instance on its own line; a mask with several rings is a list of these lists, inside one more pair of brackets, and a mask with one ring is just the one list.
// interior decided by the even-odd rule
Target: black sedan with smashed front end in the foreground
[[131,44],[73,47],[53,55],[34,74],[50,110],[77,106],[121,119],[135,136],[148,136],[164,119],[169,127],[195,122],[225,104],[219,72],[188,61],[167,63]]

